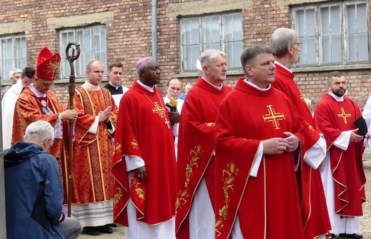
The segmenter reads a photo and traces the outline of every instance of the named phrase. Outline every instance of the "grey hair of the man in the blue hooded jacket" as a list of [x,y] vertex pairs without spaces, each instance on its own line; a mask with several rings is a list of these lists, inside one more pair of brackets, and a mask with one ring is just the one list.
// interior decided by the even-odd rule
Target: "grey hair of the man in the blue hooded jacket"
[[54,142],[54,128],[49,122],[46,121],[36,121],[30,123],[26,128],[26,133],[24,134],[24,141],[34,140],[42,144],[48,138],[51,138],[51,144]]

